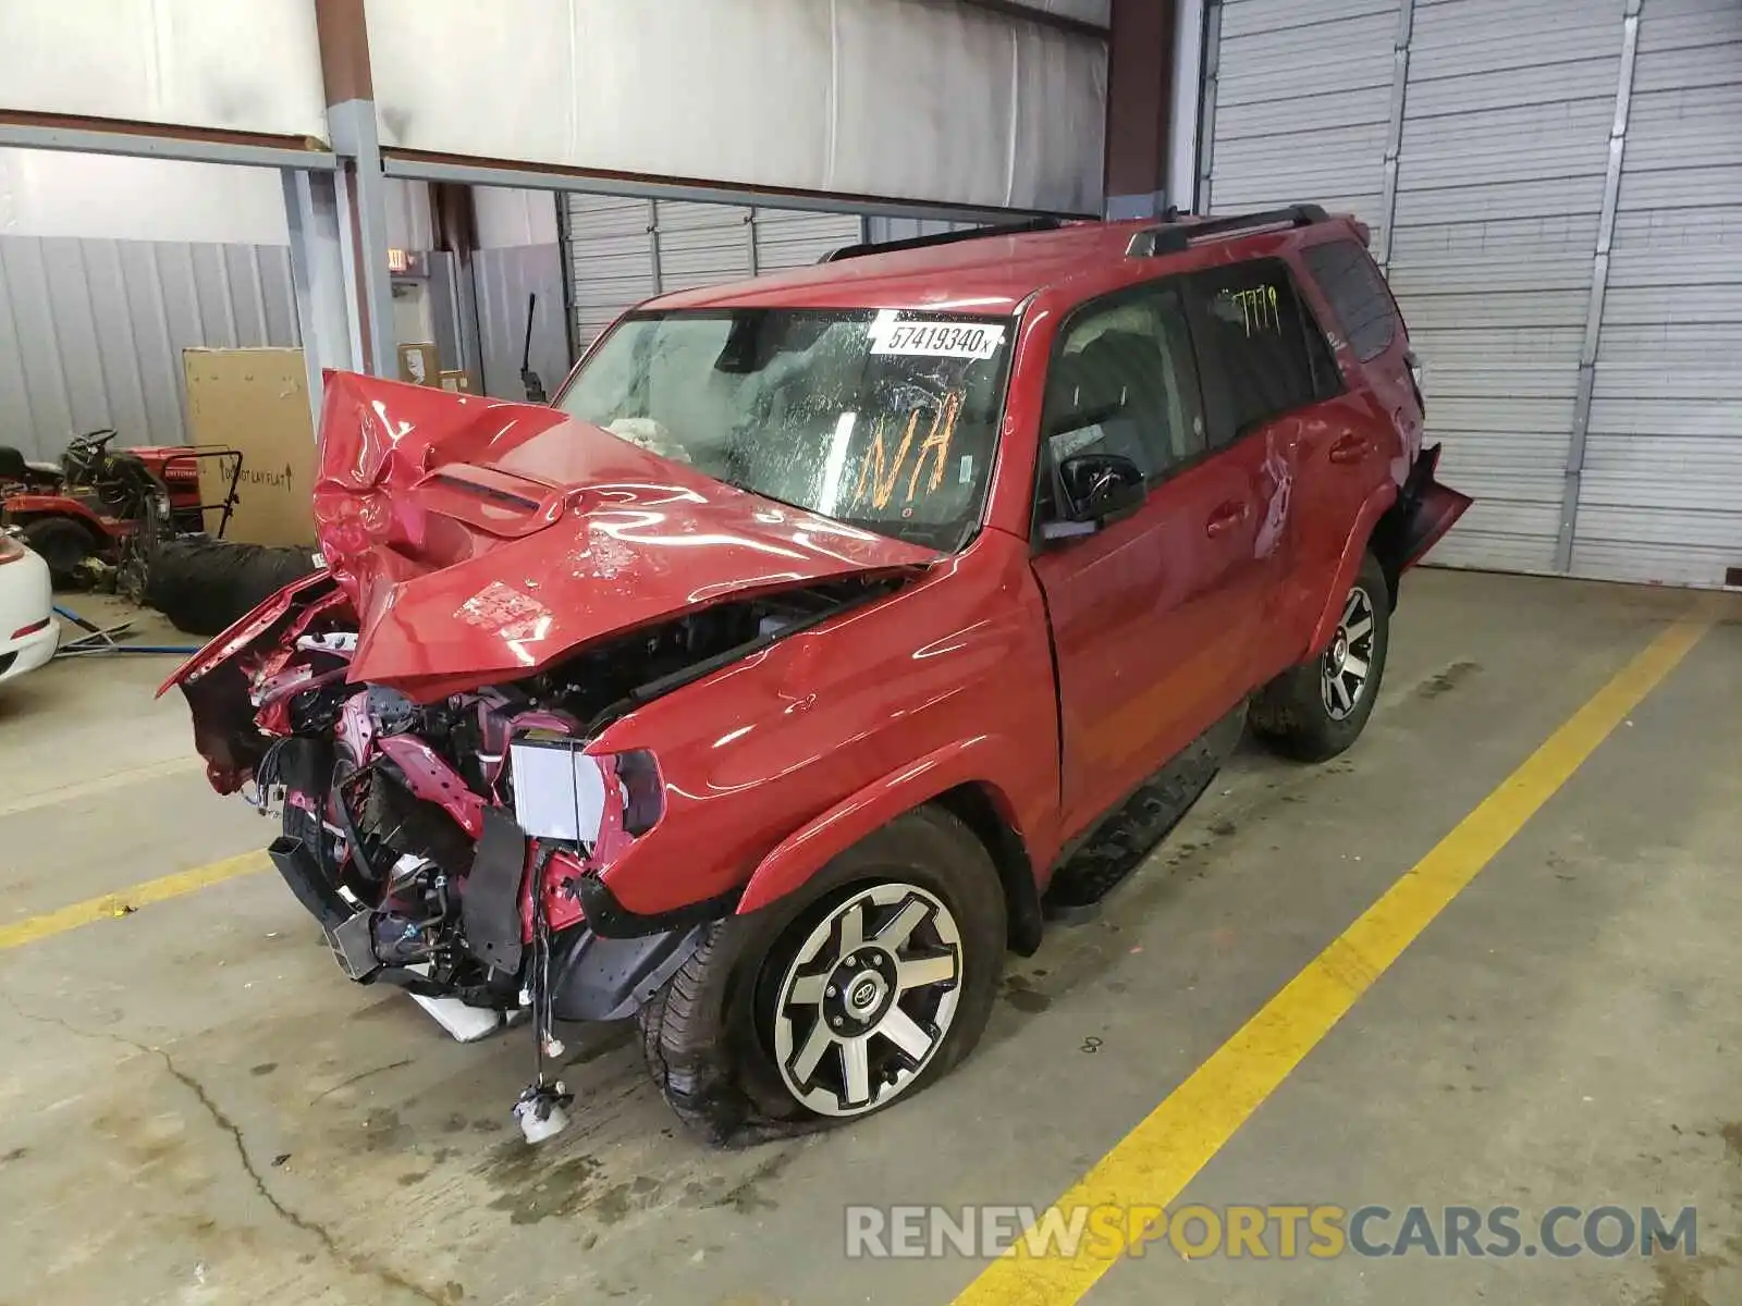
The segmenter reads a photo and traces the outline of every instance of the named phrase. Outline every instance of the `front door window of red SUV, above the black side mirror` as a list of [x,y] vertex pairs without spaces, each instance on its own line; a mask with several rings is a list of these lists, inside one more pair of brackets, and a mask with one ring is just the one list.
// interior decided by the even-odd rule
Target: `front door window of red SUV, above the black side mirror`
[[1042,439],[1052,467],[1085,453],[1129,458],[1148,484],[1205,449],[1185,306],[1171,286],[1078,310],[1047,374]]

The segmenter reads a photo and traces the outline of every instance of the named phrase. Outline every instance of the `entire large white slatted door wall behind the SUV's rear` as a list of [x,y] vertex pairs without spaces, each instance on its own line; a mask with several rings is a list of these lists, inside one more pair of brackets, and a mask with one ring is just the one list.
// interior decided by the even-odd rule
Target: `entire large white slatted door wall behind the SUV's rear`
[[1742,5],[1225,0],[1207,21],[1200,207],[1319,200],[1373,226],[1428,437],[1477,498],[1434,559],[1685,583],[1742,564]]

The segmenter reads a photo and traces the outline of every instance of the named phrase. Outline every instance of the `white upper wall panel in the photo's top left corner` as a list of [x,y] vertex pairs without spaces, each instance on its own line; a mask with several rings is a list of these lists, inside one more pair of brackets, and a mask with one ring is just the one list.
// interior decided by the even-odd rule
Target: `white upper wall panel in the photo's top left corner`
[[12,111],[326,139],[310,0],[5,0]]

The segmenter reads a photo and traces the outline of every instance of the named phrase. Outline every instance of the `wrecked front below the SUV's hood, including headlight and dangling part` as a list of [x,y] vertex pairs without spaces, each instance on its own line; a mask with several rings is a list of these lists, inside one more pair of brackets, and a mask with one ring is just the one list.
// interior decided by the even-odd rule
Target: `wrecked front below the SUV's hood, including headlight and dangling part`
[[[300,580],[185,667],[219,792],[282,822],[279,874],[359,984],[406,989],[455,1038],[530,1020],[618,1020],[690,958],[702,923],[622,911],[601,871],[664,815],[658,759],[589,752],[646,702],[878,590],[857,580],[716,604],[617,636],[521,681],[415,702],[352,679],[354,609]],[[167,684],[165,684],[167,688]],[[544,1073],[516,1107],[530,1141],[561,1123]]]

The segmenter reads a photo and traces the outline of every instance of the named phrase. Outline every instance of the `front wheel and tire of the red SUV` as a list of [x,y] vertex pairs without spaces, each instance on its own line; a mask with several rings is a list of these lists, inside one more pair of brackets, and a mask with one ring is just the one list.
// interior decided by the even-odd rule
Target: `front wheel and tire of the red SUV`
[[972,1052],[1003,947],[986,848],[941,808],[909,811],[801,892],[707,926],[641,1008],[648,1073],[723,1146],[881,1111]]

